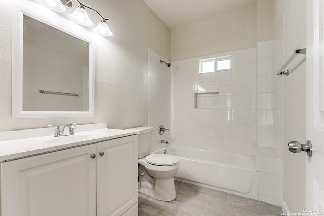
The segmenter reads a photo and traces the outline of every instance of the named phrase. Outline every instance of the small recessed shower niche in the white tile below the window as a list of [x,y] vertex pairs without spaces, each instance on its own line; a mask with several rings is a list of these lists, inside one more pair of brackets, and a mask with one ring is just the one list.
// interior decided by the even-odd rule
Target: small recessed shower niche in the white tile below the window
[[219,108],[219,92],[203,92],[194,94],[194,108]]

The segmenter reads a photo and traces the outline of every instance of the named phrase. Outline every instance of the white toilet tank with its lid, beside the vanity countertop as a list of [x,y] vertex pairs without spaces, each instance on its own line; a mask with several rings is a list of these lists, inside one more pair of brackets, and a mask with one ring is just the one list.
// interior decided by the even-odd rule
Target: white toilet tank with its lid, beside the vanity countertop
[[138,135],[138,158],[145,157],[151,153],[151,142],[153,127],[135,127],[127,131],[137,132]]

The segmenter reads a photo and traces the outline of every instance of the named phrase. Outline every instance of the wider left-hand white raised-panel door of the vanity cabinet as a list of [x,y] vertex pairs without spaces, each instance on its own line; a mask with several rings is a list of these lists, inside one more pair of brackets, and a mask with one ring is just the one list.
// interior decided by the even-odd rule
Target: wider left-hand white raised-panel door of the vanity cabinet
[[95,144],[1,164],[1,216],[96,215]]

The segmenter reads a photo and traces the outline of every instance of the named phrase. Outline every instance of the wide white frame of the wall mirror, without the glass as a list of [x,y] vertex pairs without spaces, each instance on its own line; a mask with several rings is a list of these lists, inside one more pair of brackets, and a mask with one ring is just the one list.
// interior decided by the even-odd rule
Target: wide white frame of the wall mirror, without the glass
[[[23,110],[23,15],[89,43],[89,111],[24,111]],[[67,20],[68,21],[68,20]],[[91,117],[95,108],[94,44],[65,26],[55,23],[20,5],[13,5],[13,58],[12,58],[12,118]]]

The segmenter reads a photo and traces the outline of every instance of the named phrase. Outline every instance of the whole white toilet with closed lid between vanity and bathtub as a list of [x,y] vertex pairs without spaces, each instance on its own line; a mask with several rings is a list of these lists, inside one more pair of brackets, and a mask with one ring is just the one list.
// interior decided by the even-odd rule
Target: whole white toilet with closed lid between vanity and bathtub
[[152,127],[127,130],[138,134],[138,191],[154,199],[174,200],[177,194],[173,177],[180,167],[179,159],[168,154],[150,154]]

